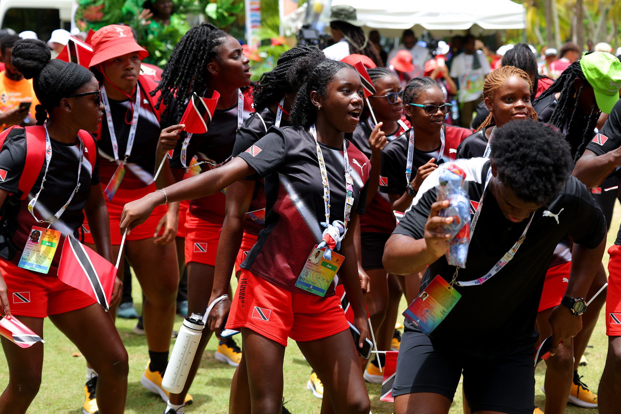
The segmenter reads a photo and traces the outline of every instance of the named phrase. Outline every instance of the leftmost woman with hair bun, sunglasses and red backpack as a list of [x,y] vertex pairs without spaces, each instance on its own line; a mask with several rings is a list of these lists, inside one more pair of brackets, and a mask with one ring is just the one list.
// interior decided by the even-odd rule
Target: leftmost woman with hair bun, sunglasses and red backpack
[[[45,127],[27,127],[30,129],[26,132],[14,127],[0,150],[0,169],[5,174],[0,182],[0,308],[6,317],[19,317],[41,337],[43,318],[50,317],[99,374],[89,384],[93,395],[100,397],[99,412],[120,414],[125,407],[129,366],[114,321],[89,295],[57,277],[66,237],[79,237],[84,215],[97,250],[112,261],[108,214],[99,186],[97,145],[86,133],[95,132],[101,122],[99,85],[86,68],[50,57],[50,49],[40,40],[18,40],[13,47],[13,65],[25,78],[33,79],[40,102],[36,107],[37,124],[47,123]],[[18,187],[24,171],[32,168],[27,163],[27,133],[44,140],[43,145],[48,141],[51,148],[50,158],[43,161],[29,190],[30,198],[36,200],[32,213],[29,198],[19,200]],[[61,233],[48,272],[18,267],[30,229],[48,225]],[[121,287],[117,278],[111,302],[120,298]],[[9,384],[0,396],[0,412],[25,413],[39,391],[43,344],[19,348],[4,337],[1,342]]]

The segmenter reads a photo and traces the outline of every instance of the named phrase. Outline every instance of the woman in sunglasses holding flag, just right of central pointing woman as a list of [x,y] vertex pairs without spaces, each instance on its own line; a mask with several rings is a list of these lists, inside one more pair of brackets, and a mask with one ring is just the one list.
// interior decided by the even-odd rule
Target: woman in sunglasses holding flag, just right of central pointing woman
[[[409,121],[402,116],[403,92],[399,78],[386,68],[369,68],[367,71],[376,90],[376,93],[369,97],[369,102],[378,120],[378,125],[374,125],[373,118],[365,109],[367,117],[358,124],[352,137],[354,145],[365,153],[371,164],[366,211],[360,216],[361,265],[371,279],[371,291],[366,295],[365,300],[378,349],[390,351],[393,338],[396,338],[394,342],[397,349],[399,346],[399,336],[394,330],[394,325],[402,291],[397,276],[387,274],[382,264],[384,244],[397,222],[392,214],[392,206],[388,197],[378,192],[379,169],[382,148],[410,127]],[[356,168],[362,168],[362,166],[356,166]],[[384,366],[383,355],[379,358],[381,365]],[[379,371],[378,362],[372,359],[365,371],[365,379],[369,382],[381,383],[383,377],[383,373]]]

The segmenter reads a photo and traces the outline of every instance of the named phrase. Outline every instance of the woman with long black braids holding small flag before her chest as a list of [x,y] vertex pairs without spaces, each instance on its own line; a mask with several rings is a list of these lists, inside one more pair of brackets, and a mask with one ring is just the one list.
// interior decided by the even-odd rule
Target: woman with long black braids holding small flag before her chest
[[[181,181],[188,167],[200,165],[204,173],[231,160],[235,133],[253,112],[248,61],[235,38],[209,23],[194,26],[177,43],[160,84],[152,92],[153,95],[161,92],[156,108],[163,110],[162,126],[168,126],[160,135],[156,165],[160,165],[168,151],[174,150],[157,178],[158,188]],[[215,93],[220,96],[206,133],[179,132],[183,128],[179,121],[194,92],[207,98]],[[194,156],[197,161],[193,160]],[[185,238],[188,314],[204,313],[209,304],[206,292],[212,289],[220,228],[225,217],[225,192],[194,199],[181,214],[185,215],[186,232],[177,235]],[[233,338],[220,341],[216,359],[237,366],[241,357]],[[188,400],[186,394],[186,391],[171,394],[167,411],[182,410],[180,407]]]

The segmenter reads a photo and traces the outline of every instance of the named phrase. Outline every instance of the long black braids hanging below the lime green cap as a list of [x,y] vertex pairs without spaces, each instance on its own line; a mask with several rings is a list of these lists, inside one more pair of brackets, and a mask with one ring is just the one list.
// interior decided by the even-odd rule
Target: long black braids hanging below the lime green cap
[[[592,52],[587,52],[587,54],[589,53]],[[578,90],[574,87],[575,78],[581,79],[583,83]],[[579,115],[577,115],[576,112],[578,112],[578,101],[582,89],[584,89],[584,84],[589,84],[589,81],[586,80],[584,73],[582,73],[580,60],[576,60],[574,63],[571,63],[550,88],[546,89],[546,91],[539,96],[537,101],[534,102],[537,104],[542,101],[542,99],[545,99],[545,97],[553,95],[556,92],[561,92],[561,96],[558,98],[558,104],[556,104],[554,112],[552,112],[552,116],[548,122],[561,131],[565,124],[567,124],[565,140],[567,140],[571,146],[571,156],[573,156],[574,161],[578,161],[587,144],[593,138],[593,130],[597,125],[599,114],[601,114],[601,110],[595,110],[594,106],[586,125],[582,126],[579,123]]]

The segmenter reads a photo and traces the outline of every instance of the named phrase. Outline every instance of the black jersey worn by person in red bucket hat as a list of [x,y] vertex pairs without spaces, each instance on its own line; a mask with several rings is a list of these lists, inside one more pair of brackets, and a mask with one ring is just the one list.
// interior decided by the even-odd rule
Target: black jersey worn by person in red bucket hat
[[[157,119],[147,99],[147,93],[148,91],[140,86],[141,102],[134,146],[132,146],[132,153],[125,164],[125,176],[120,182],[119,187],[121,189],[139,189],[153,182],[155,148],[160,137],[161,128],[160,121]],[[132,122],[132,106],[135,99],[135,95],[132,97],[131,102],[129,99],[125,101],[108,99],[110,102],[110,112],[112,113],[112,124],[114,124],[114,133],[119,145],[119,159],[121,161],[125,159],[125,149],[127,148],[127,139],[129,138]],[[105,109],[101,123],[101,134],[97,143],[99,144],[99,155],[101,156],[101,181],[107,184],[118,165],[114,160],[114,151],[112,151],[112,141],[110,140],[110,131],[106,122]]]

